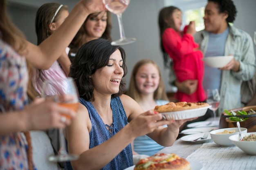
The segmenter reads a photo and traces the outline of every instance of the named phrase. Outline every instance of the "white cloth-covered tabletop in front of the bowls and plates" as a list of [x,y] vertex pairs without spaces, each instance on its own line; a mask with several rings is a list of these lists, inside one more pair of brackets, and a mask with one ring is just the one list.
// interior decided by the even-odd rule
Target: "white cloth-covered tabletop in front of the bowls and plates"
[[196,162],[202,165],[192,167],[191,164],[191,170],[256,170],[256,155],[247,155],[235,145],[220,146],[212,139],[195,143],[179,138],[173,146],[165,147],[157,153],[175,153],[193,161],[193,164]]

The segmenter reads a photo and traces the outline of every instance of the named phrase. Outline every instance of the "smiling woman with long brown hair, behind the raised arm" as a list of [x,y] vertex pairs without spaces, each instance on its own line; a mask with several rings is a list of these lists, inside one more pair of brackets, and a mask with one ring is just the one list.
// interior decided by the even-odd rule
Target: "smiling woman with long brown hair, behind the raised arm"
[[70,61],[74,60],[77,50],[92,39],[104,38],[111,41],[111,28],[111,13],[109,11],[90,14],[70,43]]

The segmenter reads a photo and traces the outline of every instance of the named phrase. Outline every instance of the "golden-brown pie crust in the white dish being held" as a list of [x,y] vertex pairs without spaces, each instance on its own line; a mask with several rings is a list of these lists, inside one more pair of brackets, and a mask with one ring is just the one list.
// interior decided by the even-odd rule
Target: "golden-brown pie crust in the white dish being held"
[[181,110],[188,110],[188,109],[197,109],[200,107],[207,107],[209,106],[208,103],[204,102],[198,102],[198,103],[193,103],[193,102],[169,102],[166,105],[161,105],[161,106],[155,106],[154,111],[157,111],[159,113],[163,112],[171,112],[171,111],[181,111]]

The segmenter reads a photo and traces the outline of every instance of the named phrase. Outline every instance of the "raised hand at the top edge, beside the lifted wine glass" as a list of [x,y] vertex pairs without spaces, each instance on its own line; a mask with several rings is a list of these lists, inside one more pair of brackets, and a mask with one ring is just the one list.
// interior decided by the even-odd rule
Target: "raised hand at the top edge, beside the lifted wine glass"
[[106,7],[103,4],[102,0],[81,0],[80,2],[83,4],[85,10],[88,13],[106,11]]

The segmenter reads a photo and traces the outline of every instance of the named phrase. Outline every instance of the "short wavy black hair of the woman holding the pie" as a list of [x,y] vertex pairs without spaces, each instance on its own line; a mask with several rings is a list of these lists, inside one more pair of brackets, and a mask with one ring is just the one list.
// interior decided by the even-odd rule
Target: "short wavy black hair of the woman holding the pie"
[[[94,39],[83,44],[76,53],[74,61],[70,66],[69,76],[74,78],[81,98],[87,101],[94,101],[94,86],[90,76],[98,69],[108,65],[110,55],[116,50],[121,52],[123,59],[124,76],[127,74],[126,54],[121,46],[112,46],[108,39]],[[123,77],[124,77],[123,76]],[[121,79],[119,92],[112,94],[112,98],[124,94],[126,90],[124,79]]]

